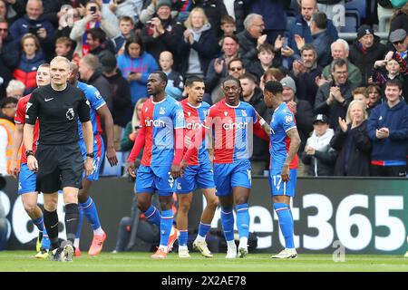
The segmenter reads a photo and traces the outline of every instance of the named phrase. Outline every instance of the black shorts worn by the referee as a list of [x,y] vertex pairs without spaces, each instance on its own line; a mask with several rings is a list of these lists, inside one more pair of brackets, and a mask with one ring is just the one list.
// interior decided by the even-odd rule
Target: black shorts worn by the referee
[[71,187],[80,189],[83,179],[83,157],[78,142],[63,145],[38,145],[37,189],[54,193]]

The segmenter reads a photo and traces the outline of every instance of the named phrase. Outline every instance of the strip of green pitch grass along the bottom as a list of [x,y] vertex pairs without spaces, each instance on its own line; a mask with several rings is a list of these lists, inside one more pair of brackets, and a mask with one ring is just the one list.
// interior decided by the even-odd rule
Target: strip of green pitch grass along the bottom
[[297,259],[275,260],[269,254],[249,254],[243,259],[225,259],[225,254],[205,258],[190,253],[180,259],[170,253],[165,260],[151,259],[151,253],[102,253],[77,257],[72,263],[35,259],[33,251],[0,252],[0,272],[408,272],[408,258],[403,256],[345,255],[345,262],[333,261],[331,255],[299,255]]

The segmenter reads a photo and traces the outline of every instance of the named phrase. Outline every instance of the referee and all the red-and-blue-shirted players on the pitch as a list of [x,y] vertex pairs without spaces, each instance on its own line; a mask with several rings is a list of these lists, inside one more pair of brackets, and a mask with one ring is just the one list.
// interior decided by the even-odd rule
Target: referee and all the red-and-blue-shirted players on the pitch
[[[201,78],[186,80],[188,97],[181,102],[166,95],[167,81],[165,73],[149,75],[147,89],[151,98],[141,108],[140,130],[128,159],[129,173],[136,178],[137,207],[160,228],[160,246],[151,257],[166,258],[178,239],[180,258],[189,258],[188,213],[195,189],[200,189],[207,205],[193,247],[202,256],[212,256],[206,236],[220,206],[228,245],[226,258],[248,255],[249,159],[252,136],[256,135],[270,140],[270,195],[286,242],[285,249],[272,257],[296,258],[290,202],[295,196],[300,138],[294,115],[282,101],[282,84],[275,81],[265,84],[264,102],[273,111],[267,124],[250,104],[239,101],[242,89],[232,76],[221,83],[225,98],[211,107],[202,101],[205,86]],[[12,172],[18,175],[18,193],[22,195],[24,209],[40,231],[36,257],[72,261],[73,256],[81,256],[83,214],[93,228],[88,254],[98,255],[106,234],[89,190],[92,181],[99,177],[104,158],[99,117],[104,124],[107,159],[111,165],[118,162],[112,146],[112,115],[101,94],[78,82],[77,67],[63,57],[39,67],[37,85],[38,89],[18,103],[11,164]],[[23,140],[23,153],[18,160]],[[136,169],[135,160],[141,150],[140,166]],[[61,244],[56,213],[59,189],[63,189],[67,237]],[[37,206],[40,191],[44,193],[44,214]],[[155,192],[159,195],[160,210],[151,203]],[[176,226],[173,193],[179,197]],[[234,204],[238,248],[234,240]]]

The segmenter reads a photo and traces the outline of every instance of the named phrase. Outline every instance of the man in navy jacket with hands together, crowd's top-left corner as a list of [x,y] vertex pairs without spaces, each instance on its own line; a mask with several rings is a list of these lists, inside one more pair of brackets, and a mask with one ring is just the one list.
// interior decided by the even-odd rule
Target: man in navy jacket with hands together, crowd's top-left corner
[[10,27],[14,41],[20,42],[24,34],[34,34],[38,37],[45,55],[53,55],[55,29],[53,24],[44,18],[43,1],[28,0],[25,11],[24,17],[16,20]]

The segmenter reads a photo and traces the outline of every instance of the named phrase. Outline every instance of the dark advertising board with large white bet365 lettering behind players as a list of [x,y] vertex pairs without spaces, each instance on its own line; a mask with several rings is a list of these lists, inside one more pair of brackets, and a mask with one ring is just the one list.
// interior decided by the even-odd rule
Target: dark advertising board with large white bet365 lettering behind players
[[[37,229],[24,212],[21,198],[15,194],[17,182],[6,178],[0,198],[10,225],[6,249],[26,249],[37,236]],[[95,182],[91,195],[108,238],[104,250],[112,251],[119,221],[131,212],[133,184],[124,178],[104,178]],[[43,197],[40,195],[39,202]],[[60,195],[59,217],[63,221]],[[189,228],[198,227],[203,198],[195,194],[190,208]],[[275,253],[284,245],[272,210],[266,178],[253,178],[249,198],[249,230],[257,237],[257,252]],[[292,214],[295,220],[295,244],[299,253],[334,253],[343,248],[350,254],[405,253],[408,227],[408,180],[371,178],[299,178]],[[221,228],[220,211],[212,227]],[[64,238],[63,223],[60,237]],[[92,229],[84,220],[81,248],[92,241]],[[30,244],[31,242],[31,244]],[[27,244],[28,243],[28,244]]]

